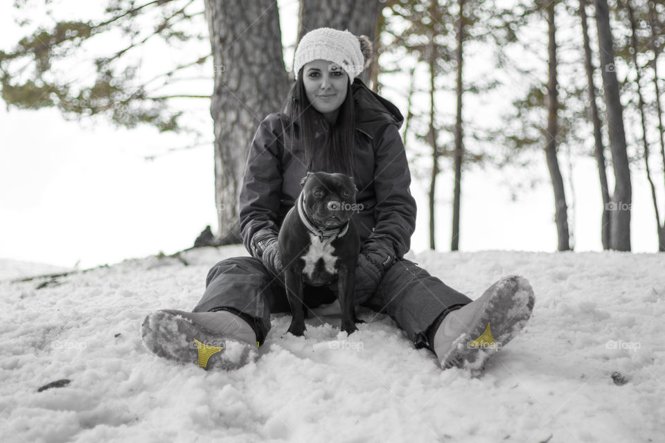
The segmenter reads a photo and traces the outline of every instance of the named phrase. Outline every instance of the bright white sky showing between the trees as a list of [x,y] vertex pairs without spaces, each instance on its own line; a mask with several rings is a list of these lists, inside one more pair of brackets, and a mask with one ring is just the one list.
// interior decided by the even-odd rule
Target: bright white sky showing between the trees
[[[297,6],[295,1],[280,4],[283,41],[288,47],[296,38]],[[0,48],[6,50],[22,35],[12,14],[10,5],[1,3]],[[292,48],[287,48],[285,60],[290,54]],[[157,55],[173,57],[170,51]],[[383,93],[406,114],[398,86],[387,85]],[[210,128],[211,140],[209,102],[199,100],[188,106],[194,109],[190,118]],[[492,112],[482,98],[465,106],[470,114]],[[24,111],[5,106],[0,107],[0,132],[0,257],[87,268],[160,251],[175,253],[192,246],[206,225],[217,228],[210,143],[169,152],[192,141],[149,127],[118,129],[103,119],[67,121],[53,109]],[[407,143],[407,154],[412,152]],[[565,156],[560,155],[560,161],[567,174]],[[452,224],[452,165],[443,167],[437,188],[438,251],[450,250]],[[411,169],[411,192],[418,203],[411,246],[419,252],[429,247],[429,183],[419,165]],[[601,251],[595,162],[574,159],[571,170],[575,249]],[[540,184],[513,200],[502,172],[491,168],[465,172],[461,250],[556,250],[553,195],[544,153],[531,174],[542,177]],[[425,179],[418,179],[421,175]],[[520,176],[512,181],[520,181]],[[633,251],[656,252],[653,204],[646,176],[638,168],[632,169],[632,187]]]

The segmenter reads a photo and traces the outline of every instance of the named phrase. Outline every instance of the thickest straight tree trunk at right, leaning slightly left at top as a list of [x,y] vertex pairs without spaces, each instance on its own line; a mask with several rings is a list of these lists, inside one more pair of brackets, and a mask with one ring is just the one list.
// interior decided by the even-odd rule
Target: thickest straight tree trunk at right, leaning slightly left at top
[[598,28],[598,53],[601,56],[605,107],[608,114],[608,133],[610,134],[610,152],[614,169],[614,192],[610,209],[610,248],[618,251],[630,251],[630,206],[632,188],[630,186],[630,167],[626,150],[626,133],[623,129],[623,107],[619,95],[619,82],[614,71],[614,49],[612,48],[612,30],[607,0],[594,0],[596,4],[596,27]]

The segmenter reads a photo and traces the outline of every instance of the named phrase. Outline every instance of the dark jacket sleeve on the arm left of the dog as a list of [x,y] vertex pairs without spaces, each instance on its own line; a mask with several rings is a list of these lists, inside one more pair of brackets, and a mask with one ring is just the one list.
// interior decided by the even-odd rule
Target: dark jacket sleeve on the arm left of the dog
[[279,232],[281,133],[280,116],[269,114],[254,134],[245,165],[240,190],[240,233],[245,248],[256,258],[263,253],[266,239]]

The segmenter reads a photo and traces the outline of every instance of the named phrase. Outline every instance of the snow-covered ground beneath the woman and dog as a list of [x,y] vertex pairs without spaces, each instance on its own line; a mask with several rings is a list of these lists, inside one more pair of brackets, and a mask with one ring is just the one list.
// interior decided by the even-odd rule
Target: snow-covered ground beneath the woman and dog
[[409,255],[471,298],[502,275],[531,281],[529,325],[477,378],[441,370],[371,311],[350,337],[328,323],[283,337],[290,318],[274,316],[260,358],[234,372],[148,352],[145,315],[191,309],[209,267],[233,255],[245,250],[127,260],[42,289],[3,278],[0,440],[664,441],[665,255]]

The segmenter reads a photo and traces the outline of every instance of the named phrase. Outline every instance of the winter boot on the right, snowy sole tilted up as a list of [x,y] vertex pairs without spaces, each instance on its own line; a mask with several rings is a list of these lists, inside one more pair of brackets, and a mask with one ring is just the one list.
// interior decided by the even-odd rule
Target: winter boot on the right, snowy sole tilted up
[[533,289],[526,278],[502,278],[485,293],[450,311],[434,333],[441,368],[481,370],[488,357],[526,325],[533,310]]

